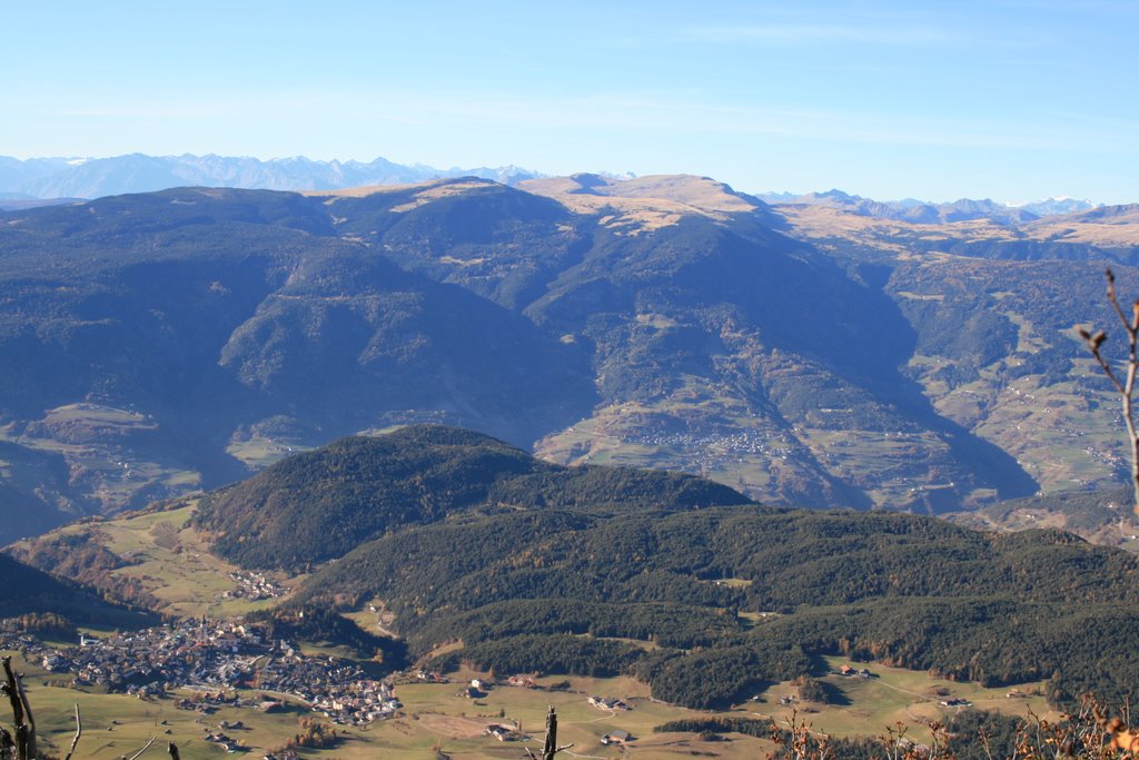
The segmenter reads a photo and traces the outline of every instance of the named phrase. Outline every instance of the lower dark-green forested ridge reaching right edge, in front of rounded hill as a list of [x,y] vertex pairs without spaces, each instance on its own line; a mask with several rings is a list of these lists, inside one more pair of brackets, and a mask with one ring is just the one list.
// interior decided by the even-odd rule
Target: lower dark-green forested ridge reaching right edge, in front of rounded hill
[[[494,672],[633,672],[712,708],[835,654],[1118,697],[1139,564],[1070,534],[929,517],[723,507],[508,513],[409,528],[321,569],[289,604],[383,604],[413,653]],[[461,641],[456,649],[453,643]]]

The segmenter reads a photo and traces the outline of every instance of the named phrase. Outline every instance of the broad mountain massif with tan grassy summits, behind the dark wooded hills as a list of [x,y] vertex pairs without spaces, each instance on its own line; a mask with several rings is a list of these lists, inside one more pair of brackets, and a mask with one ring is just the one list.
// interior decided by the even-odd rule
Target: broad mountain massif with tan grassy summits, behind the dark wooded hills
[[1128,207],[911,223],[696,177],[5,213],[0,542],[407,423],[817,507],[1114,482],[1071,328],[1111,318],[1105,260],[1139,292],[1137,229]]

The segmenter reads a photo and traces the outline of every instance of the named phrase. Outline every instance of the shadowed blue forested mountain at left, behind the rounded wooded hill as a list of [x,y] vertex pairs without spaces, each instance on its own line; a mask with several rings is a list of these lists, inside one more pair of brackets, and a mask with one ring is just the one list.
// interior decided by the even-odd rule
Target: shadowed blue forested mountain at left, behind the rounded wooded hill
[[230,452],[267,434],[311,446],[425,409],[526,442],[590,408],[574,346],[331,229],[302,196],[230,190],[14,215],[0,435],[30,452],[9,484],[35,498],[23,460],[62,453],[67,508],[142,506],[236,480]]

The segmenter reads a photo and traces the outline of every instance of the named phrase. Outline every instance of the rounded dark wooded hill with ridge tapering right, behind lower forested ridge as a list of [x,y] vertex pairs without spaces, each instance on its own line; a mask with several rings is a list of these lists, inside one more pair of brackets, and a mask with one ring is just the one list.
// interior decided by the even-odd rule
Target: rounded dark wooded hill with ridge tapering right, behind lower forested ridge
[[565,468],[469,431],[416,425],[347,438],[208,495],[196,521],[214,551],[249,567],[341,557],[403,526],[472,512],[531,508],[690,509],[746,504],[691,475]]

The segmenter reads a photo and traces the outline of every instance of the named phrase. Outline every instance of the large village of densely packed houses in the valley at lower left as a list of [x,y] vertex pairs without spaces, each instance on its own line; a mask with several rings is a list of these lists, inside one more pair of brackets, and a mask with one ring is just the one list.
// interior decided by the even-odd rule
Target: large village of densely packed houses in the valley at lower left
[[[23,648],[31,651],[31,641]],[[265,709],[261,702],[224,694],[239,687],[295,696],[347,726],[388,718],[402,706],[391,684],[368,678],[352,661],[305,656],[293,641],[273,639],[263,627],[240,621],[186,619],[103,639],[82,636],[76,647],[41,646],[34,654],[44,669],[72,673],[77,686],[98,685],[140,697],[195,688],[198,696],[179,706],[185,702],[202,712],[221,703]]]

